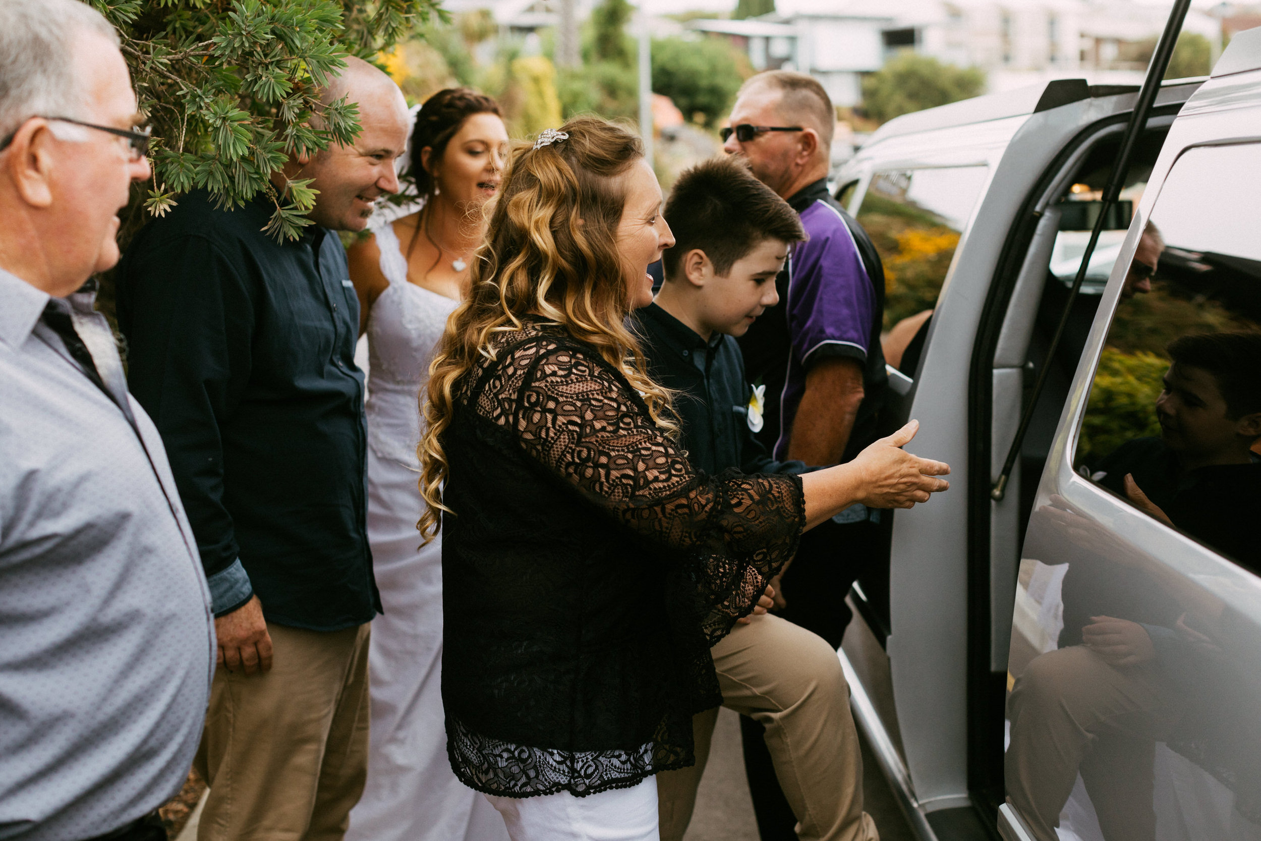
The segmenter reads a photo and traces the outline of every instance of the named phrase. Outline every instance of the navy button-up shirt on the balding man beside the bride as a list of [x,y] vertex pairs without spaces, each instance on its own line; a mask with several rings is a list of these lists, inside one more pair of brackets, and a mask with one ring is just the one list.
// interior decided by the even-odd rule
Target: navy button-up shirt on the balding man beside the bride
[[216,614],[252,590],[270,622],[335,630],[380,609],[359,305],[337,235],[311,226],[276,242],[262,231],[271,211],[265,198],[237,211],[180,198],[120,264],[119,325]]

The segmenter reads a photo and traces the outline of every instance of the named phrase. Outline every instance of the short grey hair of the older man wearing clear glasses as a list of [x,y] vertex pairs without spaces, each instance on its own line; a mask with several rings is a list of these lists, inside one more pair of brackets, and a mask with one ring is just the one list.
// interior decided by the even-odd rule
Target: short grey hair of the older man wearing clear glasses
[[33,116],[82,112],[74,42],[84,32],[119,44],[110,21],[79,0],[0,0],[0,137]]

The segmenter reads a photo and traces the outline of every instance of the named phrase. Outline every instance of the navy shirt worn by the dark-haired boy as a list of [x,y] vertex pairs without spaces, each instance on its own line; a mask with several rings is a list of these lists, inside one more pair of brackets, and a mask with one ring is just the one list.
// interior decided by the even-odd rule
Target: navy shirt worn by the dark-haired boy
[[676,392],[682,446],[699,470],[735,468],[743,473],[803,473],[801,461],[777,461],[749,427],[752,387],[735,339],[715,333],[709,342],[657,306],[630,316],[652,378]]

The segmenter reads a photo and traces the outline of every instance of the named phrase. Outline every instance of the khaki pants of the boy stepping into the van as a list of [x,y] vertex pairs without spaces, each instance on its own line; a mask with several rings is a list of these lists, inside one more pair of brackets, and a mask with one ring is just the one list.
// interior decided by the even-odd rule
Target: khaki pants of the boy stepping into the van
[[[863,811],[863,757],[850,690],[836,652],[799,625],[765,614],[738,624],[711,649],[723,706],[767,729],[767,748],[802,841],[876,841]],[[657,775],[662,841],[692,818],[718,710],[692,721],[696,764]]]

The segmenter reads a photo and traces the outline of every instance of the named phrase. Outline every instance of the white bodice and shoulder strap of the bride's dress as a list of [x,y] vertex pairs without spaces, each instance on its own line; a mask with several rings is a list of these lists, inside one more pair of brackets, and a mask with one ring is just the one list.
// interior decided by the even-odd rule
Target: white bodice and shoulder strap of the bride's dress
[[368,319],[368,443],[377,455],[419,468],[417,396],[429,382],[434,347],[458,301],[407,281],[407,258],[390,222],[368,228],[390,286]]

